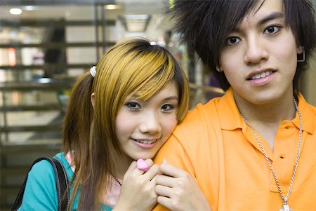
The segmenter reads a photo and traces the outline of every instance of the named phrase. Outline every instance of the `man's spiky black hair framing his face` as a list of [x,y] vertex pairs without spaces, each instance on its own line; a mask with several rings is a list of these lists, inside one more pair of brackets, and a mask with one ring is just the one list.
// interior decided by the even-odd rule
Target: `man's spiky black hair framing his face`
[[[225,38],[244,17],[254,11],[259,0],[175,0],[169,13],[176,20],[176,31],[186,44],[187,50],[195,51],[202,62],[209,67],[223,90],[230,83],[223,72],[217,72],[219,56]],[[262,3],[261,3],[262,4]],[[304,46],[305,57],[310,58],[316,47],[315,11],[308,0],[283,0],[286,23],[291,28],[296,43]],[[294,76],[294,89],[308,62],[298,62]]]

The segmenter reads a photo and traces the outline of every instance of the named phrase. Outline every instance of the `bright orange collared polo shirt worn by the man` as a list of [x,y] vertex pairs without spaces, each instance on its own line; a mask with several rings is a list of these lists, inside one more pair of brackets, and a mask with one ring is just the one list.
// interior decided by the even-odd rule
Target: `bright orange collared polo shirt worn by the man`
[[[294,211],[316,210],[316,107],[298,95],[303,116],[301,157],[288,204]],[[299,117],[283,121],[274,151],[258,135],[270,158],[284,197],[287,196],[298,147]],[[265,156],[244,123],[232,90],[189,111],[159,150],[162,159],[186,170],[197,181],[212,210],[279,210],[277,191]],[[154,210],[166,210],[157,205]]]

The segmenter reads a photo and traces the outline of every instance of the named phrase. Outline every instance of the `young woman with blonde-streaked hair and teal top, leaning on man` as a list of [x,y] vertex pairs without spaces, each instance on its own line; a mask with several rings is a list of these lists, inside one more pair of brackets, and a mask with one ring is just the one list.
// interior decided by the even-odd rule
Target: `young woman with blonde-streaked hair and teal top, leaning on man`
[[[57,158],[70,180],[68,210],[152,210],[151,158],[183,119],[189,88],[174,57],[145,39],[117,43],[74,84]],[[143,159],[149,170],[138,169]],[[29,172],[20,210],[58,210],[48,161]]]

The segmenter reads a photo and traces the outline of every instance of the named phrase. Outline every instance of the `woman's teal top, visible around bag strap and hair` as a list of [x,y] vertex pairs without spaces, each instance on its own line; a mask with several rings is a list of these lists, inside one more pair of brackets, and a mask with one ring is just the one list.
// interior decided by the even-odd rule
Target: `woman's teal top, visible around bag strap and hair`
[[[67,178],[70,181],[74,172],[70,163],[66,160],[63,153],[58,153],[55,158],[62,163],[65,168]],[[72,186],[70,186],[70,194]],[[74,199],[72,210],[77,210],[80,190]],[[58,210],[58,198],[53,166],[48,161],[39,161],[32,170],[29,171],[27,184],[22,200],[22,205],[18,210]],[[110,211],[112,207],[102,205],[101,210]]]

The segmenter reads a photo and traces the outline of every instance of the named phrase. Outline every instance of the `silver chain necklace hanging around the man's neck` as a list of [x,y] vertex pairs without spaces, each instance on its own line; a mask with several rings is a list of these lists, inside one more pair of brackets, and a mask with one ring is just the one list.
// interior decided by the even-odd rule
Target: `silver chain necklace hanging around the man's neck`
[[244,119],[246,125],[248,125],[248,127],[251,130],[251,132],[254,134],[254,137],[256,137],[256,139],[258,141],[258,144],[259,144],[259,146],[261,148],[261,151],[265,155],[265,160],[267,160],[267,162],[268,162],[268,165],[270,167],[272,175],[273,175],[273,177],[275,177],[275,183],[277,184],[277,190],[279,191],[279,195],[281,196],[282,201],[283,201],[283,207],[279,211],[291,211],[292,210],[292,209],[289,208],[289,205],[287,204],[287,200],[289,200],[289,195],[291,193],[291,189],[292,189],[292,186],[293,186],[293,183],[294,183],[294,178],[295,178],[295,175],[296,175],[296,170],[297,170],[297,166],[298,166],[298,160],[299,160],[300,154],[301,154],[301,140],[302,140],[302,130],[303,130],[303,119],[302,119],[302,116],[301,116],[301,111],[298,109],[298,105],[297,105],[297,102],[295,100],[295,97],[293,97],[293,102],[294,102],[296,111],[298,113],[298,116],[300,118],[300,132],[298,134],[298,147],[297,147],[297,154],[296,154],[296,161],[295,161],[295,165],[294,165],[293,175],[291,177],[289,191],[287,192],[287,196],[285,198],[283,196],[281,187],[279,186],[279,181],[277,180],[277,175],[275,175],[275,170],[273,170],[273,168],[272,168],[272,164],[271,164],[271,162],[270,162],[270,160],[268,158],[267,153],[265,152],[265,149],[263,148],[263,145],[262,145],[258,135],[256,134],[254,128],[252,128],[251,124],[246,120],[246,118],[244,118],[244,116],[241,113],[239,113],[240,116],[242,116],[242,118]]

